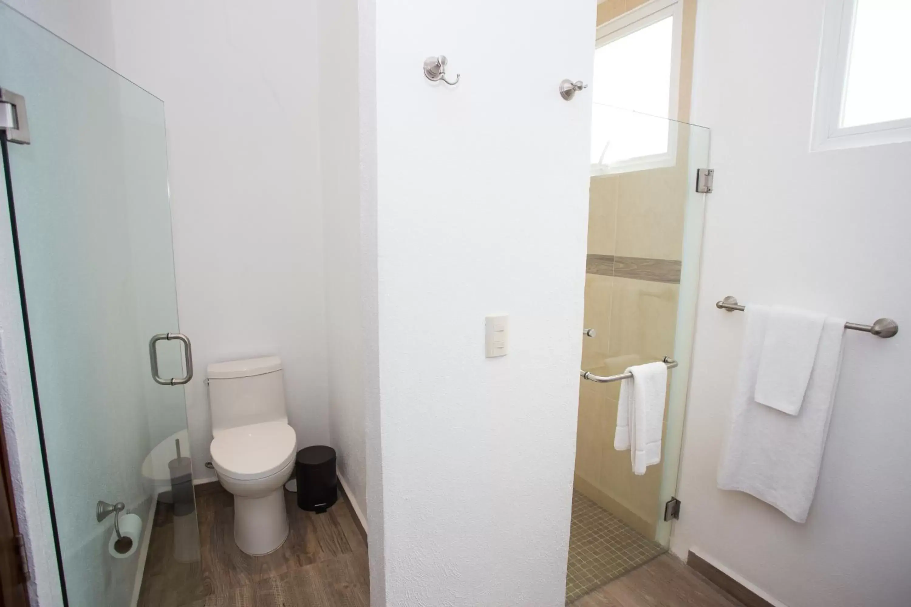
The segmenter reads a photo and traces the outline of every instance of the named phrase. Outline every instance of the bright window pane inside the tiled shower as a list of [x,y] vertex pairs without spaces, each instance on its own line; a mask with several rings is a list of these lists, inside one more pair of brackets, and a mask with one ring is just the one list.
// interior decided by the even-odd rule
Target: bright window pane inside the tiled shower
[[[673,17],[595,51],[591,164],[668,152]],[[632,110],[619,111],[615,108]]]

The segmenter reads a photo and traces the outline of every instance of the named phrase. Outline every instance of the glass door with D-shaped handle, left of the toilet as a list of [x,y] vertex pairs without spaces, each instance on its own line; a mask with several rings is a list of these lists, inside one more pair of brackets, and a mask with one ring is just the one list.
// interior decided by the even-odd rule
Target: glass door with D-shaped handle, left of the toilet
[[[3,4],[0,87],[22,97],[30,138],[0,131],[65,600],[176,605],[141,595],[150,575],[182,599],[201,588],[189,349],[167,339],[179,327],[164,106]],[[148,551],[154,534],[168,537]]]

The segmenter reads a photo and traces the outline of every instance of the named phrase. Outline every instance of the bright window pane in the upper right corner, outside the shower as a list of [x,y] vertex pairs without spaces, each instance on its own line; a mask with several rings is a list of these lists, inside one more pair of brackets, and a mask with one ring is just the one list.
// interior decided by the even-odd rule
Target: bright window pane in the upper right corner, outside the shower
[[841,126],[911,117],[909,57],[911,2],[857,0]]

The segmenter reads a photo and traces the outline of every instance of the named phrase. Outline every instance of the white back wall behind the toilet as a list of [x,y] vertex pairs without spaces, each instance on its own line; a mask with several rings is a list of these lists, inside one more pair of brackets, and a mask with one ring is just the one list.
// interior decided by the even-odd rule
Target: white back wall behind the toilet
[[314,3],[116,3],[114,29],[118,71],[165,102],[197,478],[214,477],[210,362],[279,355],[298,444],[325,443]]

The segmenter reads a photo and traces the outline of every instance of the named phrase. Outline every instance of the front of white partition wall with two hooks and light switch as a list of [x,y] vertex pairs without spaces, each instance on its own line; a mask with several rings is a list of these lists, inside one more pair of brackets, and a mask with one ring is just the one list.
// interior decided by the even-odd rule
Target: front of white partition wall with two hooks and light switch
[[[594,2],[377,2],[377,607],[565,602],[590,97],[558,84],[590,78],[594,22]],[[458,86],[425,79],[438,54]],[[492,313],[505,358],[484,358]]]

